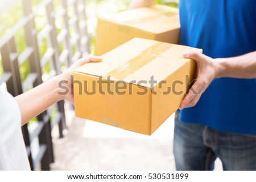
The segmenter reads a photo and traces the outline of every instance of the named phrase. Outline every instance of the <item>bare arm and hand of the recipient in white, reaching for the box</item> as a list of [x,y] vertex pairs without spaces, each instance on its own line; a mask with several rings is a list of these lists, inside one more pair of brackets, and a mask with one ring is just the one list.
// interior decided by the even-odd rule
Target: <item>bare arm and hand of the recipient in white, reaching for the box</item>
[[[32,88],[32,90],[27,91],[19,96],[16,96],[15,100],[19,105],[20,113],[22,115],[22,125],[26,124],[27,121],[39,115],[59,100],[66,99],[68,101],[71,101],[72,103],[72,71],[77,67],[84,65],[90,61],[101,61],[101,58],[92,55],[89,55],[85,58],[81,58],[80,60],[76,61],[75,64],[73,64],[71,67],[69,67],[67,73],[57,75],[56,77],[49,79],[49,81],[44,82],[35,88]],[[59,94],[59,82],[61,81],[68,81],[68,94]]]

